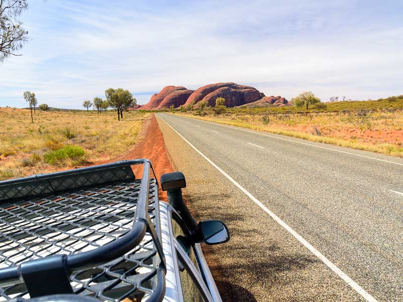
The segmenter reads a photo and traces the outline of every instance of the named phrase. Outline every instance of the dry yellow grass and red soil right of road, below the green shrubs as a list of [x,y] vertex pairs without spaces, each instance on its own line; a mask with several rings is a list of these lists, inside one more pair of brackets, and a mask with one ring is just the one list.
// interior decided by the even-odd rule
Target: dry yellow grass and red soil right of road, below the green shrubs
[[[403,111],[250,113],[232,109],[222,115],[178,113],[189,117],[283,134],[311,141],[403,157]],[[194,113],[196,114],[196,113]]]

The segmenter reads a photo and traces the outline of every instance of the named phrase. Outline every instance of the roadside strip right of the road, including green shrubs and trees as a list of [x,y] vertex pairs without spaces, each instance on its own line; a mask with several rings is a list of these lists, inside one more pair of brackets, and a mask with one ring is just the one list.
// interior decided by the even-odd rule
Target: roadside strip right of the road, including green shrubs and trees
[[[171,110],[193,118],[403,157],[403,95],[374,101],[321,103],[311,92],[294,106]],[[307,108],[308,107],[308,108]]]

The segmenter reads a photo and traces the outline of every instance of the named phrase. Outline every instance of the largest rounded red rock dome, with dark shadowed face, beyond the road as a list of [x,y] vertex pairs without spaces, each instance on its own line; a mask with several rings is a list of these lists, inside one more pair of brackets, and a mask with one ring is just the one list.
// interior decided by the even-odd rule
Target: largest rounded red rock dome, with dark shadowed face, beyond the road
[[217,83],[198,88],[190,95],[185,105],[192,102],[197,104],[200,101],[207,101],[210,106],[215,106],[217,98],[224,98],[225,106],[234,107],[257,101],[262,97],[264,97],[263,93],[250,86]]

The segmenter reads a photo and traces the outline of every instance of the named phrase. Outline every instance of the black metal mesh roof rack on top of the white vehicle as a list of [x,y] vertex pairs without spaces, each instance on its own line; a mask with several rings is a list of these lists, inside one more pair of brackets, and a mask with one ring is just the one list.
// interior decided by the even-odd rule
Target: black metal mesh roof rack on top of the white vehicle
[[[139,164],[136,179],[131,166]],[[162,300],[166,267],[150,170],[143,159],[0,182],[0,300]]]

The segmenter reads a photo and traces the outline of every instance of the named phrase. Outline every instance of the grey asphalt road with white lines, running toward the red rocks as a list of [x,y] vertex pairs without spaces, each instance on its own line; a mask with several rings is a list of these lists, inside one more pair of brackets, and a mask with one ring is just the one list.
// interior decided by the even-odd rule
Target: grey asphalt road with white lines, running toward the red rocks
[[403,160],[157,120],[195,214],[231,231],[229,243],[206,249],[224,299],[403,300]]

